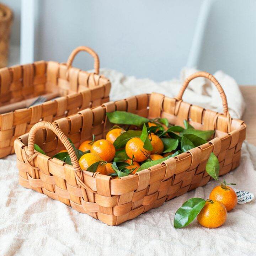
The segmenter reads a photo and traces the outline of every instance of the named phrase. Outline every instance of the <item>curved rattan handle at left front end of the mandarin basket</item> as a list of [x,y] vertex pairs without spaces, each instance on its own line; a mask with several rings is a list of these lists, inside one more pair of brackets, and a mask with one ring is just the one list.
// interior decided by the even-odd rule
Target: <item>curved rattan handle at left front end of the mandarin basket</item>
[[34,140],[36,137],[36,132],[41,128],[48,128],[57,135],[57,137],[60,139],[60,141],[63,143],[66,150],[68,151],[68,154],[71,159],[71,163],[75,171],[81,171],[78,159],[76,157],[75,151],[71,143],[69,142],[66,135],[62,132],[62,130],[54,123],[42,121],[34,124],[34,126],[30,130],[30,133],[28,134],[28,156],[32,156],[34,154]]

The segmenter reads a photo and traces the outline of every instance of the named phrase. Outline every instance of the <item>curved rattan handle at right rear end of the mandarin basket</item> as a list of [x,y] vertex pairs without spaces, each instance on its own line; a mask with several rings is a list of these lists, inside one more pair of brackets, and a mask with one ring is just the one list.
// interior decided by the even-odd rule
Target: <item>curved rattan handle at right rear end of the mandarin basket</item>
[[196,73],[190,75],[188,78],[186,78],[186,80],[184,81],[184,83],[183,83],[183,85],[182,85],[182,87],[180,89],[180,92],[178,93],[177,97],[175,97],[175,98],[177,100],[182,100],[183,93],[186,90],[189,82],[191,80],[193,80],[194,78],[201,77],[201,76],[204,77],[204,78],[209,79],[217,87],[217,89],[218,89],[218,91],[220,93],[220,97],[222,98],[222,105],[223,105],[224,116],[228,116],[229,115],[229,112],[228,112],[228,102],[226,100],[225,92],[223,91],[222,86],[219,84],[218,80],[212,74],[210,74],[208,72],[199,71],[199,72],[196,72]]

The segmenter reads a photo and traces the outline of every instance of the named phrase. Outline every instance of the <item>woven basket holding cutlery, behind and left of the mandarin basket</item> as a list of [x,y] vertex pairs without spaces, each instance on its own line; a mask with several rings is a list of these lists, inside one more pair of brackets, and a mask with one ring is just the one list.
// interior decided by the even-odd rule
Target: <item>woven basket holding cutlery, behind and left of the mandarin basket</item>
[[[95,60],[95,73],[71,66],[80,51],[90,53]],[[88,107],[109,101],[110,81],[99,74],[98,55],[89,47],[73,50],[67,63],[38,61],[0,69],[0,106],[20,102],[43,94],[60,96],[41,105],[0,114],[0,158],[14,153],[14,140],[29,132],[39,121],[52,122]],[[51,140],[51,139],[50,139]]]

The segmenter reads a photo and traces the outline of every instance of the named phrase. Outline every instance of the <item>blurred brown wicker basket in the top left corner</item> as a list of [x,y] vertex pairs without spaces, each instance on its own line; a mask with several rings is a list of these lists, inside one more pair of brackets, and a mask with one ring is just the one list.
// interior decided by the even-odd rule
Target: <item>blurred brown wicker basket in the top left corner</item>
[[13,15],[11,9],[0,4],[0,68],[7,65]]

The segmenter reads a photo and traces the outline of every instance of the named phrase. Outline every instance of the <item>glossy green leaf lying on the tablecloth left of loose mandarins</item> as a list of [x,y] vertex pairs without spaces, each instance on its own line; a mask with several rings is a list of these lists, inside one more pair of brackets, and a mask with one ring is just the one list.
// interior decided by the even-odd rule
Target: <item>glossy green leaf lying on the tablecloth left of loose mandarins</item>
[[188,199],[175,213],[174,227],[183,228],[190,224],[201,212],[205,203],[206,200],[198,197]]

